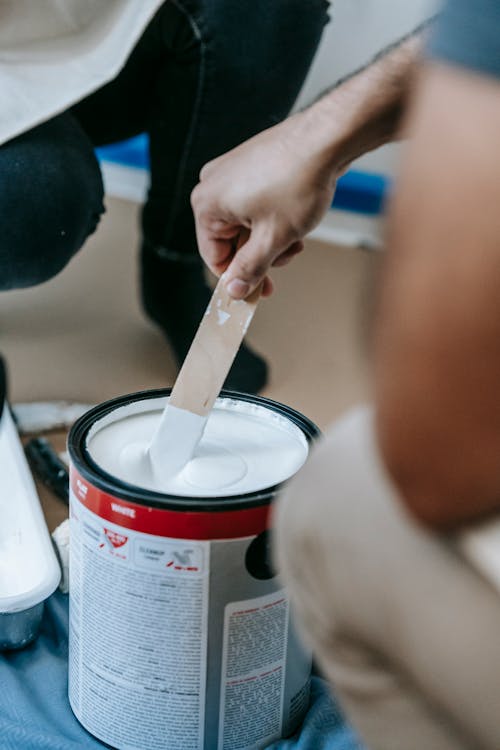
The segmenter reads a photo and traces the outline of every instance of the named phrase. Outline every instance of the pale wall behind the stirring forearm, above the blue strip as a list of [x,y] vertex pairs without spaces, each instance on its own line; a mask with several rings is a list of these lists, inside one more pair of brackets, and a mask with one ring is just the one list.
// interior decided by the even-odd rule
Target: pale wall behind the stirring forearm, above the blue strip
[[[438,0],[333,0],[323,41],[297,106],[412,31],[436,12]],[[398,148],[386,146],[359,160],[360,168],[392,173]],[[358,165],[357,165],[358,166]]]

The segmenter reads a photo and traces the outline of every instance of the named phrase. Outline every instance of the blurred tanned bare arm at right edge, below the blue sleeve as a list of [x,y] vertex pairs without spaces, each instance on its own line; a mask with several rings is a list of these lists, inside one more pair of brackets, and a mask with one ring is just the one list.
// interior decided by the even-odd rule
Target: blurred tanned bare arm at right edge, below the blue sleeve
[[425,523],[500,508],[500,82],[427,65],[377,321],[385,462]]

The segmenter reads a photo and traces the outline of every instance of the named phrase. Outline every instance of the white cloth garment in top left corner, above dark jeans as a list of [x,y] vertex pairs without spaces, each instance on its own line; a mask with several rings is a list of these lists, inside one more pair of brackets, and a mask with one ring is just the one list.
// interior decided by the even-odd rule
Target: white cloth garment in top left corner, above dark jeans
[[0,0],[0,143],[114,78],[163,0]]

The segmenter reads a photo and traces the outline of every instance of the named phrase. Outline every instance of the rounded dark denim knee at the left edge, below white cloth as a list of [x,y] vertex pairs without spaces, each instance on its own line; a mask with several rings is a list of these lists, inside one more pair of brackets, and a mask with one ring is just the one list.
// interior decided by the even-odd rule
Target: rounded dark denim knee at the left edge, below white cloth
[[71,115],[0,147],[0,289],[55,276],[104,211],[99,164]]

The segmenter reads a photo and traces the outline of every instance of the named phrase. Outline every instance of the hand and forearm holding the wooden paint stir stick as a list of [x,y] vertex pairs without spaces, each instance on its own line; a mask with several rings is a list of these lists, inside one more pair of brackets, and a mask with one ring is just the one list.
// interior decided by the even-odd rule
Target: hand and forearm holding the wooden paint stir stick
[[[353,159],[395,137],[420,47],[421,35],[405,39],[308,109],[203,168],[192,195],[198,244],[212,271],[227,269],[234,297],[302,249]],[[243,227],[250,237],[235,254]]]

